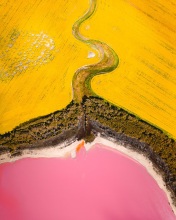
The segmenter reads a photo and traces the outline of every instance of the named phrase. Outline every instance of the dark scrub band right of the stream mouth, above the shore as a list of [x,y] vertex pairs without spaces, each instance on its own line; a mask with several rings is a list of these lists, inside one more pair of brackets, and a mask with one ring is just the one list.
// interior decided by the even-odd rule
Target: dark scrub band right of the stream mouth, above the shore
[[91,132],[112,137],[119,144],[144,153],[176,196],[176,142],[158,128],[100,98],[83,102]]

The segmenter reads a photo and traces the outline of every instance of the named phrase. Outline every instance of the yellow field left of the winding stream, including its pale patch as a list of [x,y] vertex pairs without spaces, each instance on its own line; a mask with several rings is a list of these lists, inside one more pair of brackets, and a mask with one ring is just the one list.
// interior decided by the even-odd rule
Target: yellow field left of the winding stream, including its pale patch
[[0,133],[72,100],[74,72],[98,61],[72,35],[88,7],[87,0],[1,1]]

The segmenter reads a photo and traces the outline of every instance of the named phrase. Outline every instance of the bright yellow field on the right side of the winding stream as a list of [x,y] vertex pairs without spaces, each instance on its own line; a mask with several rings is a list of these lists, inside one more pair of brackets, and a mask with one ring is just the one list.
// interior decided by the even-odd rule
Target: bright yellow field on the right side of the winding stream
[[174,138],[175,11],[174,0],[101,0],[96,14],[81,29],[83,35],[109,44],[120,59],[115,71],[93,78],[95,93]]

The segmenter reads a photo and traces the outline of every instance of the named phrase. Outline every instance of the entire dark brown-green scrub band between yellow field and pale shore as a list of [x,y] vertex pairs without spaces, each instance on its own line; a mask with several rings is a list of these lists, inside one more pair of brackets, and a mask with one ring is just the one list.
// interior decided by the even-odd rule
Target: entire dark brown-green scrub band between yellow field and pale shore
[[92,142],[97,134],[144,153],[176,196],[176,142],[158,128],[98,97],[71,102],[65,109],[32,119],[0,136],[0,154],[46,148],[75,140]]

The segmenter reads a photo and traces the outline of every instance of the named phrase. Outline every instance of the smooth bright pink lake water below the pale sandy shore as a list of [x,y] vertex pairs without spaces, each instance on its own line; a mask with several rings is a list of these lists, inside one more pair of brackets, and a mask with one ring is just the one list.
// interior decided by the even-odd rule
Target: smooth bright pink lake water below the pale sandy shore
[[146,169],[100,144],[0,165],[0,220],[174,220]]

